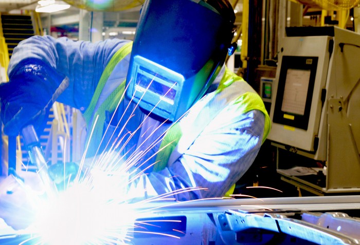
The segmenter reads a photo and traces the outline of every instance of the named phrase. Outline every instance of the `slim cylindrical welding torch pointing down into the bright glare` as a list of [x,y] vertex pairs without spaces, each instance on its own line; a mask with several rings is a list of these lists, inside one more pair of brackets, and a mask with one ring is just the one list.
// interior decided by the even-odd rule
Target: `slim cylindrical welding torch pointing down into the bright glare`
[[51,180],[45,156],[40,145],[38,135],[32,125],[28,125],[22,130],[25,146],[27,147],[30,160],[38,167],[38,174],[42,180],[47,196],[57,193],[55,183]]

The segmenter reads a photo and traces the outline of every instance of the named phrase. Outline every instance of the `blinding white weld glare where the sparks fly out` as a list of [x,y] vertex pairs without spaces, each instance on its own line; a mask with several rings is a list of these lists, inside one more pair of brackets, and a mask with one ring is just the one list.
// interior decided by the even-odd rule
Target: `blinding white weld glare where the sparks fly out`
[[46,203],[34,224],[42,241],[50,245],[110,244],[126,239],[136,217],[131,206],[98,194],[79,184]]

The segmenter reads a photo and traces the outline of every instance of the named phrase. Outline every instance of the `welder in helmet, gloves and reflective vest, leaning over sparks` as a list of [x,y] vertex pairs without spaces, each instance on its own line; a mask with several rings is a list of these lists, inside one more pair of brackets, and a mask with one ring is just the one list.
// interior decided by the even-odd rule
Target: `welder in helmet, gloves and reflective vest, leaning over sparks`
[[[188,187],[207,190],[174,198],[222,197],[270,128],[256,91],[224,65],[236,49],[234,23],[227,0],[148,0],[134,42],[28,38],[14,49],[0,88],[4,132],[17,135],[29,124],[41,131],[56,99],[83,112],[88,135],[94,128],[86,157],[114,138],[126,142],[124,159],[145,152],[138,166],[146,174],[129,187],[136,197]],[[2,213],[18,212],[4,208],[13,194],[1,193]]]

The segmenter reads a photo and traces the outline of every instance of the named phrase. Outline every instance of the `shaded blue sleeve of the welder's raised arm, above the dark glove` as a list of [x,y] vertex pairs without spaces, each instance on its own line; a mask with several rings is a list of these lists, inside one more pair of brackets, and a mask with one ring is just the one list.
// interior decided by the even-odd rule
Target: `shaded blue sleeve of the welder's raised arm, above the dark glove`
[[54,68],[61,77],[69,78],[69,87],[59,96],[58,101],[86,110],[107,63],[114,53],[128,40],[109,39],[91,43],[51,36],[33,36],[23,40],[12,54],[9,77],[17,64],[42,60]]

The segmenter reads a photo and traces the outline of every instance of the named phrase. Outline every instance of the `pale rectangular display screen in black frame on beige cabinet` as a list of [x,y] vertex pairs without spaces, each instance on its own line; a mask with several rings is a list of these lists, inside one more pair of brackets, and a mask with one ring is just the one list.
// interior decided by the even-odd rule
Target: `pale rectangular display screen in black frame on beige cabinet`
[[311,70],[288,69],[281,111],[304,115]]

